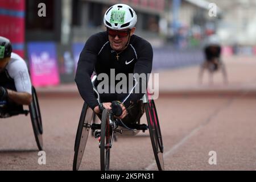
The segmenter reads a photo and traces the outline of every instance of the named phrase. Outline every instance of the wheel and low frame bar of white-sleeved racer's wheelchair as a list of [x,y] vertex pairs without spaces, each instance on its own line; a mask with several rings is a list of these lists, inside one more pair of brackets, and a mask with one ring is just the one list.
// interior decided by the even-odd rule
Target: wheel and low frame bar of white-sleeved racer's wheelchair
[[38,146],[39,151],[43,150],[43,125],[42,125],[42,117],[40,113],[40,107],[38,102],[38,96],[36,94],[36,90],[34,86],[32,86],[32,102],[28,106],[28,110],[18,110],[18,111],[11,111],[8,113],[4,113],[5,115],[0,114],[0,118],[9,118],[15,115],[28,115],[30,114],[30,119],[35,135],[36,144]]

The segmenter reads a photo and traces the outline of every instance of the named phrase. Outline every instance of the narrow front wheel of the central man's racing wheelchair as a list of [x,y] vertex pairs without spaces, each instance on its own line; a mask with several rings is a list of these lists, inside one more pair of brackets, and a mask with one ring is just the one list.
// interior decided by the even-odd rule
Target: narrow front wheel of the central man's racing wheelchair
[[109,170],[111,138],[112,138],[112,127],[109,125],[108,110],[105,109],[102,113],[102,118],[101,118],[101,140],[100,140],[101,171]]

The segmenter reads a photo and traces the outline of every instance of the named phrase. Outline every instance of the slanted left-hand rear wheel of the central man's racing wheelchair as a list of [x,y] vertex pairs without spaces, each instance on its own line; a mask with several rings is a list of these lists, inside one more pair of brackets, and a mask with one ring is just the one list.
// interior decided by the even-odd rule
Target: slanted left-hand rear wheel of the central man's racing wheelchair
[[92,109],[88,108],[88,105],[84,102],[79,119],[79,126],[77,127],[76,133],[73,171],[77,171],[80,167],[82,156],[84,155],[84,150],[88,139],[88,134],[90,131],[90,125],[92,123],[92,117]]

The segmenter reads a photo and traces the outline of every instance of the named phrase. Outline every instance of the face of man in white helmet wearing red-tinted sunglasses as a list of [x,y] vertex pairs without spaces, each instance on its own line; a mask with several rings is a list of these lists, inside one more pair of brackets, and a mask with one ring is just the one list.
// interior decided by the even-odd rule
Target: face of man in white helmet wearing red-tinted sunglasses
[[[130,30],[130,36],[134,34],[135,27]],[[109,30],[109,43],[115,51],[123,51],[129,39],[129,29],[122,31]]]

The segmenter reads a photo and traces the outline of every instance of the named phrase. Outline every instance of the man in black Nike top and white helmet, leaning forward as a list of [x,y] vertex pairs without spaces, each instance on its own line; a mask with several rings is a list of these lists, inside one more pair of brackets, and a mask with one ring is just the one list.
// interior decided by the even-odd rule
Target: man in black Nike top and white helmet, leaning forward
[[[146,40],[134,34],[136,23],[137,15],[130,6],[114,5],[104,15],[106,31],[90,36],[82,49],[75,81],[81,97],[96,114],[100,114],[104,109],[114,109],[119,112],[115,114],[116,118],[122,121],[134,121],[143,114],[140,113],[139,100],[145,94],[142,88],[147,88],[148,77],[142,78],[141,81],[134,77],[133,87],[127,89],[126,93],[117,93],[117,90],[114,93],[101,93],[102,103],[98,103],[94,96],[90,80],[93,72],[97,76],[105,73],[111,83],[111,69],[114,69],[115,74],[125,74],[127,78],[129,73],[138,73],[138,75],[151,73],[152,47]],[[96,82],[100,83],[100,80]],[[109,84],[109,90],[116,85],[115,80],[114,84]],[[134,92],[137,88],[140,89],[139,93]]]

